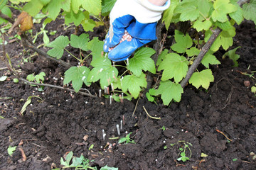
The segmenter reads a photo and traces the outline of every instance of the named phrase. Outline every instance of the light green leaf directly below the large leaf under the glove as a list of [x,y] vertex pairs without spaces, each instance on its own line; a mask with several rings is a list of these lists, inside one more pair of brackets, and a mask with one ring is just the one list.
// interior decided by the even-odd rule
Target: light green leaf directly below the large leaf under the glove
[[138,98],[139,92],[142,91],[141,87],[146,88],[145,74],[141,74],[140,77],[136,77],[134,74],[127,75],[122,80],[122,91],[129,90],[134,98]]

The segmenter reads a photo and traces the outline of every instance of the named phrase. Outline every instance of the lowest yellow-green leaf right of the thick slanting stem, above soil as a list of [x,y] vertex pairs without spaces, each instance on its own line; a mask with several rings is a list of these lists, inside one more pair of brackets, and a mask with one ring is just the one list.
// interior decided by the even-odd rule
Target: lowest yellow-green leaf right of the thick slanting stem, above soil
[[198,89],[202,86],[204,89],[208,89],[210,82],[214,81],[213,74],[210,69],[204,69],[201,72],[194,72],[189,79],[189,83]]

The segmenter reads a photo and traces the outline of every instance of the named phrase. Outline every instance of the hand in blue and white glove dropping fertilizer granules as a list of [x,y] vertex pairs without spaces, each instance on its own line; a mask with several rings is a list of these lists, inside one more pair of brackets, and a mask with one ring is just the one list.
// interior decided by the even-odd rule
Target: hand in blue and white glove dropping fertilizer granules
[[[148,0],[117,0],[110,12],[110,30],[103,46],[110,60],[127,60],[137,48],[156,40],[157,21],[169,6],[170,0],[164,6],[156,6]],[[132,35],[131,41],[122,41],[125,30]]]

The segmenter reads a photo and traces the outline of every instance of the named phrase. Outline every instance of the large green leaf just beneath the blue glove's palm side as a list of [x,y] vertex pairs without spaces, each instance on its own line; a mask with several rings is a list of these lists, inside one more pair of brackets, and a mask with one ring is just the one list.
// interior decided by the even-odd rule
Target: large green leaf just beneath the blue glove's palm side
[[149,72],[155,74],[156,67],[154,60],[150,58],[151,55],[154,55],[155,52],[156,51],[150,47],[143,47],[137,50],[137,52],[134,54],[134,57],[129,60],[127,69],[132,71],[132,73],[137,77],[140,77],[142,74],[142,69],[145,72],[149,70]]

